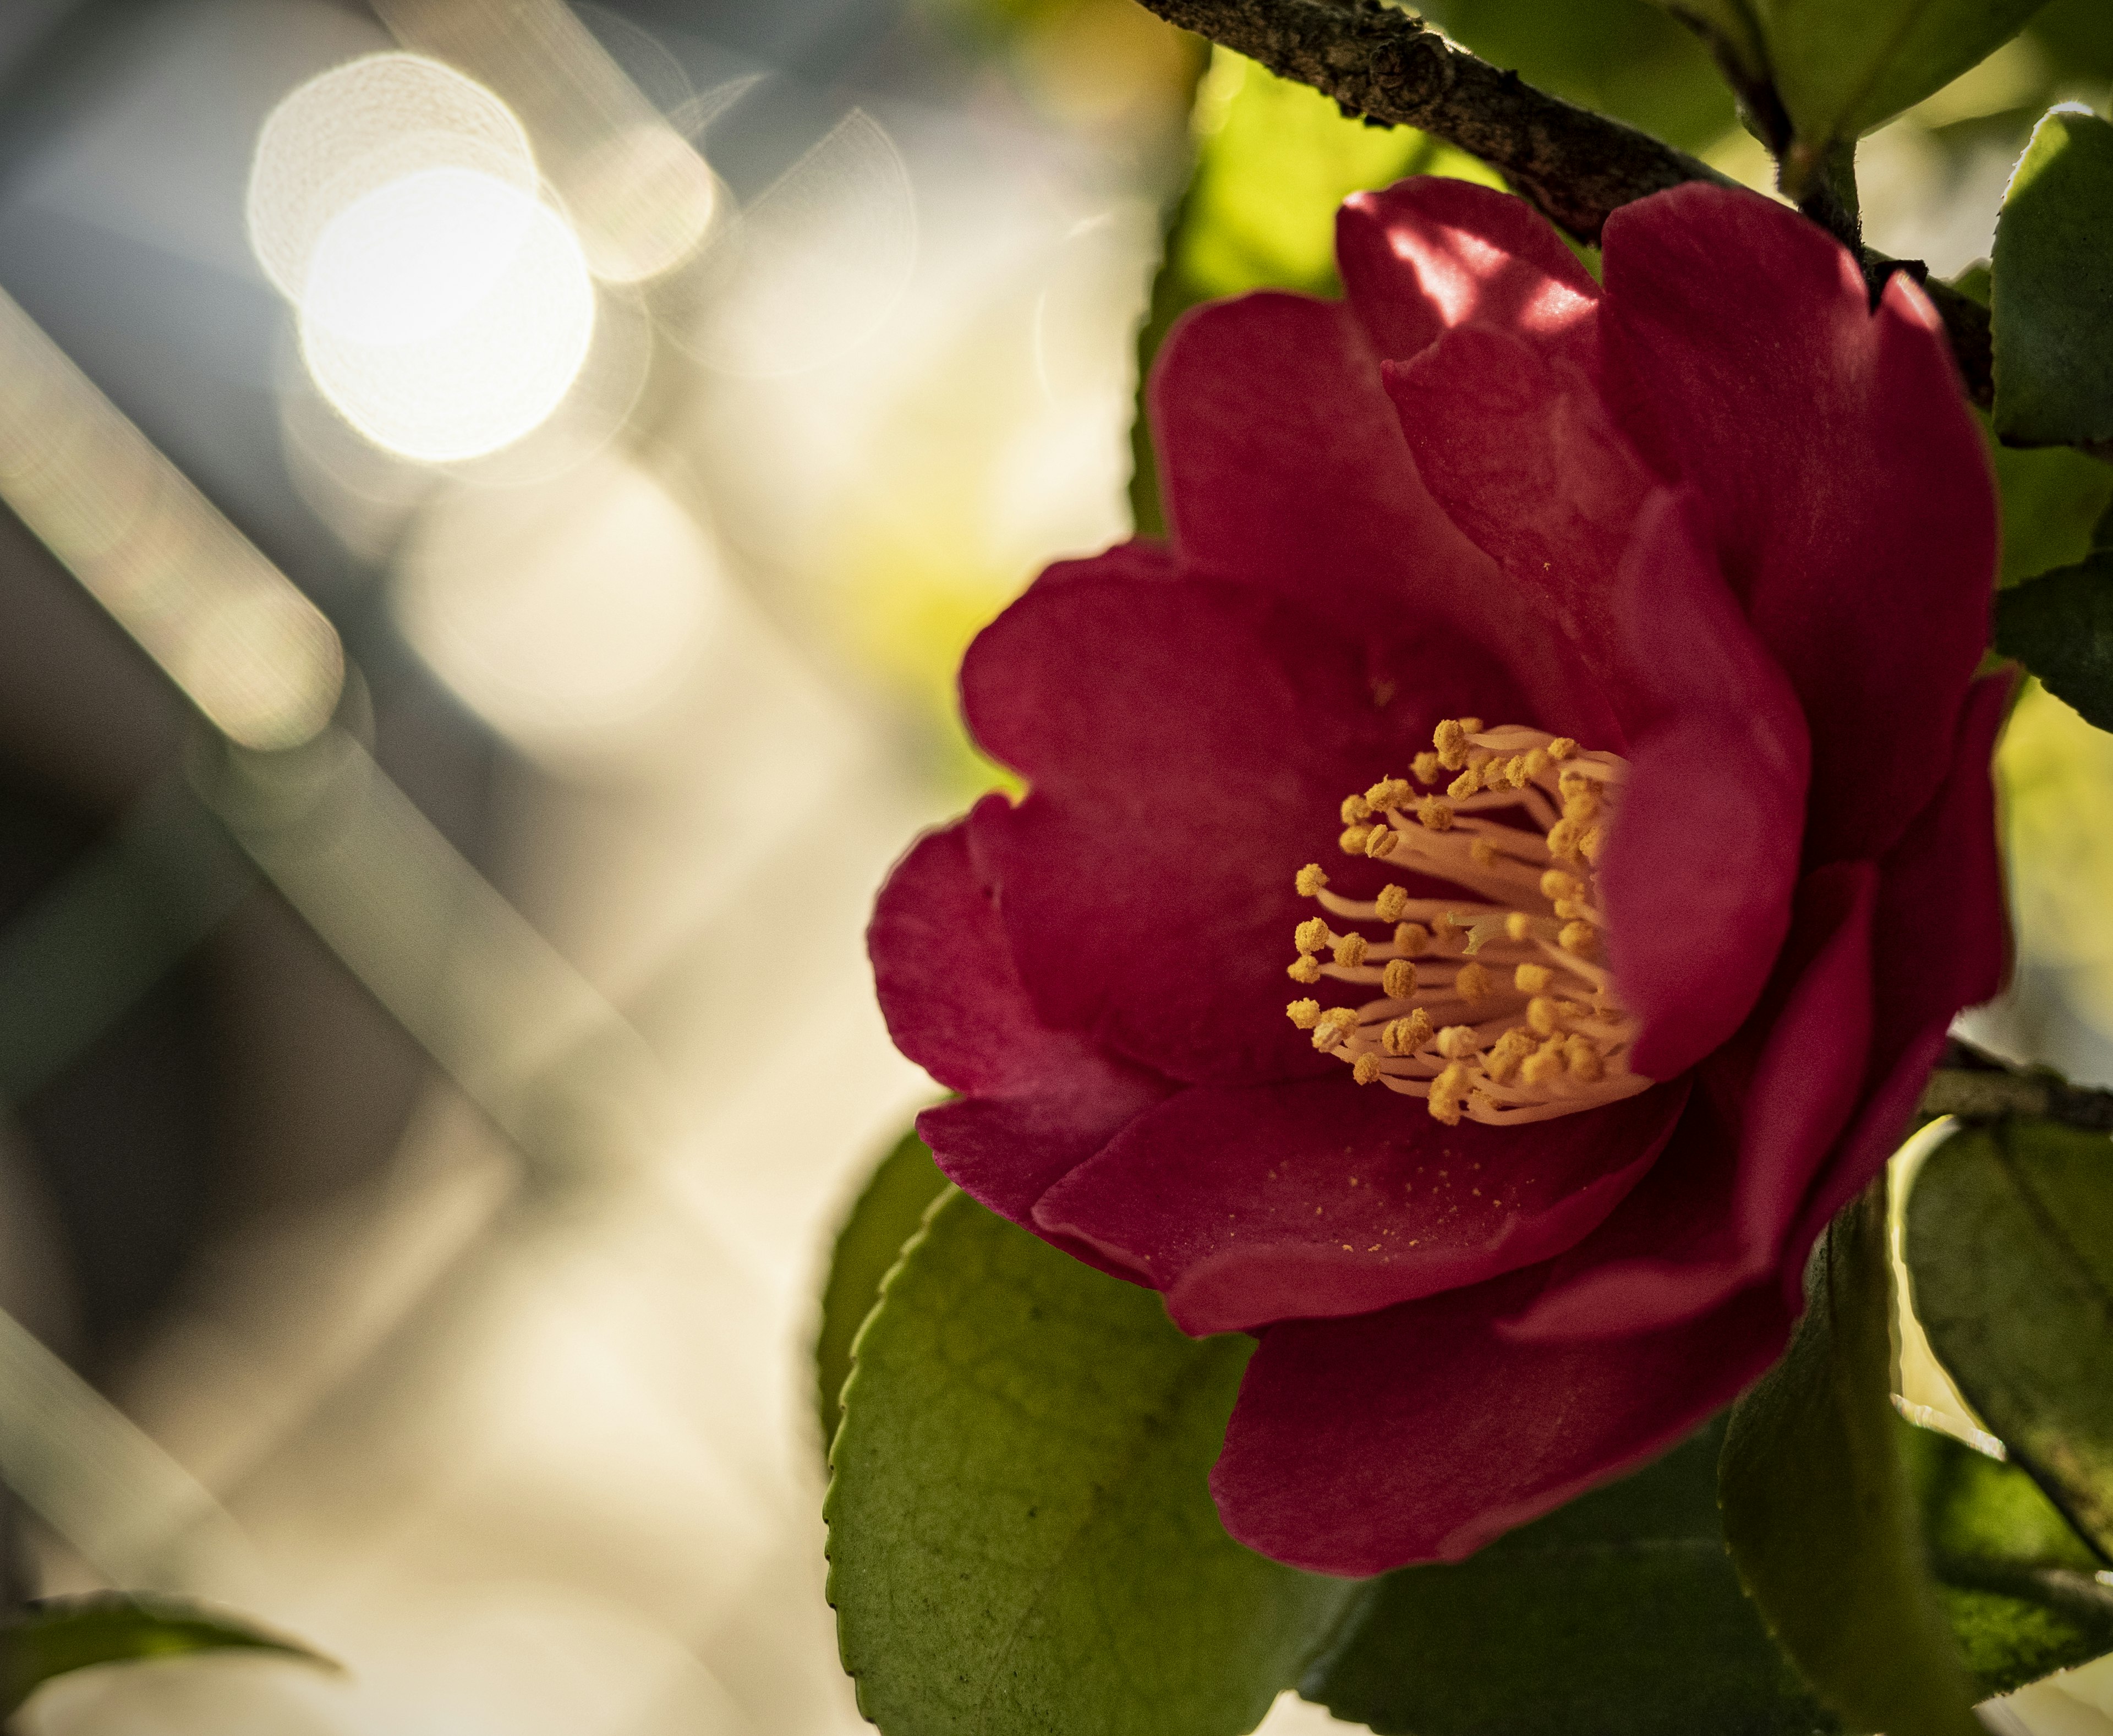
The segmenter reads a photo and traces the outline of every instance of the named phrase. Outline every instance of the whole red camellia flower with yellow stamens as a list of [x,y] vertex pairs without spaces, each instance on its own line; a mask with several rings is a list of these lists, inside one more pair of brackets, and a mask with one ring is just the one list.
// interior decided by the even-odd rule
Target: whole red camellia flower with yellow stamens
[[[1995,498],[1925,296],[1747,192],[1411,180],[1192,313],[1166,545],[970,648],[873,921],[968,1193],[1259,1339],[1228,1529],[1458,1559],[1781,1354],[2005,940]],[[1287,971],[1289,967],[1289,982]],[[1287,1018],[1287,990],[1291,995]]]

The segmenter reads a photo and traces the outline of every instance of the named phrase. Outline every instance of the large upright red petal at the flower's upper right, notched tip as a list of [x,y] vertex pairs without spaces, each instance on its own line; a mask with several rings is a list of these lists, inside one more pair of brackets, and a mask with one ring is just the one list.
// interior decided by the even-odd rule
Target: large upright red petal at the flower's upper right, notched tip
[[1929,300],[1690,184],[1606,226],[1608,391],[1709,503],[1726,577],[1813,733],[1805,860],[1883,855],[1938,788],[1988,644],[1988,458]]

